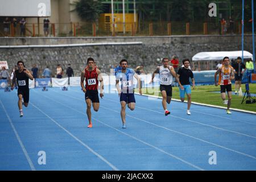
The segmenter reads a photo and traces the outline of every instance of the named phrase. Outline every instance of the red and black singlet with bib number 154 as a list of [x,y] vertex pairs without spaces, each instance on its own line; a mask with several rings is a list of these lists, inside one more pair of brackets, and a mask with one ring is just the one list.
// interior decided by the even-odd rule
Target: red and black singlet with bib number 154
[[98,73],[97,68],[92,71],[87,71],[85,68],[85,89],[86,90],[98,90]]

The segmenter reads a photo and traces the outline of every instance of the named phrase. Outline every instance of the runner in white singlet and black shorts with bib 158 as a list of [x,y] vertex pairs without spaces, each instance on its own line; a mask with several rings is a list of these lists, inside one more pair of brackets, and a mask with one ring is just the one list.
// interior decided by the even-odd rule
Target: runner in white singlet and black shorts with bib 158
[[168,58],[164,58],[162,60],[163,65],[157,67],[154,73],[152,74],[152,79],[150,82],[153,82],[155,74],[159,73],[159,80],[160,80],[160,91],[163,97],[162,105],[164,109],[164,114],[168,115],[171,112],[167,110],[167,104],[171,103],[172,99],[172,77],[176,78],[176,72],[174,67],[168,65],[169,60]]

